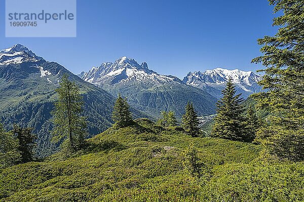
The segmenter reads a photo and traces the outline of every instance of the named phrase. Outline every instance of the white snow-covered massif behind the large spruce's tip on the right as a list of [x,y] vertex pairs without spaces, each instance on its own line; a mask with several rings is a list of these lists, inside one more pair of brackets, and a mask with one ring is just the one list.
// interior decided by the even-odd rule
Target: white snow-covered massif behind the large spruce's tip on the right
[[231,78],[236,84],[238,93],[242,93],[244,97],[261,91],[261,86],[257,83],[261,80],[261,76],[252,71],[241,71],[238,69],[227,70],[216,68],[205,72],[189,72],[184,77],[183,82],[197,88],[205,89],[210,94],[220,97],[220,91],[224,89],[226,82]]

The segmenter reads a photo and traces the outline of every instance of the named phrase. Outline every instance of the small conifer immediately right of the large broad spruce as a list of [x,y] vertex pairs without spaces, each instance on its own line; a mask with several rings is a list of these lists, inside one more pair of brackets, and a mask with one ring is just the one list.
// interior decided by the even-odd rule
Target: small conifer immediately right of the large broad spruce
[[256,113],[254,112],[252,106],[249,106],[247,109],[245,127],[247,132],[246,141],[252,142],[256,136],[257,130],[260,127],[260,121],[256,116]]

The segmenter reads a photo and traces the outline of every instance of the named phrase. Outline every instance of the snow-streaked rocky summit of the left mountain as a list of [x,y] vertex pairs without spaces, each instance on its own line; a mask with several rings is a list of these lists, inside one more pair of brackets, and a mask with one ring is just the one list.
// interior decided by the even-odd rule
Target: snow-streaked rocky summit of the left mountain
[[45,60],[36,56],[27,47],[16,44],[0,51],[0,65],[20,64],[23,62],[39,62]]

